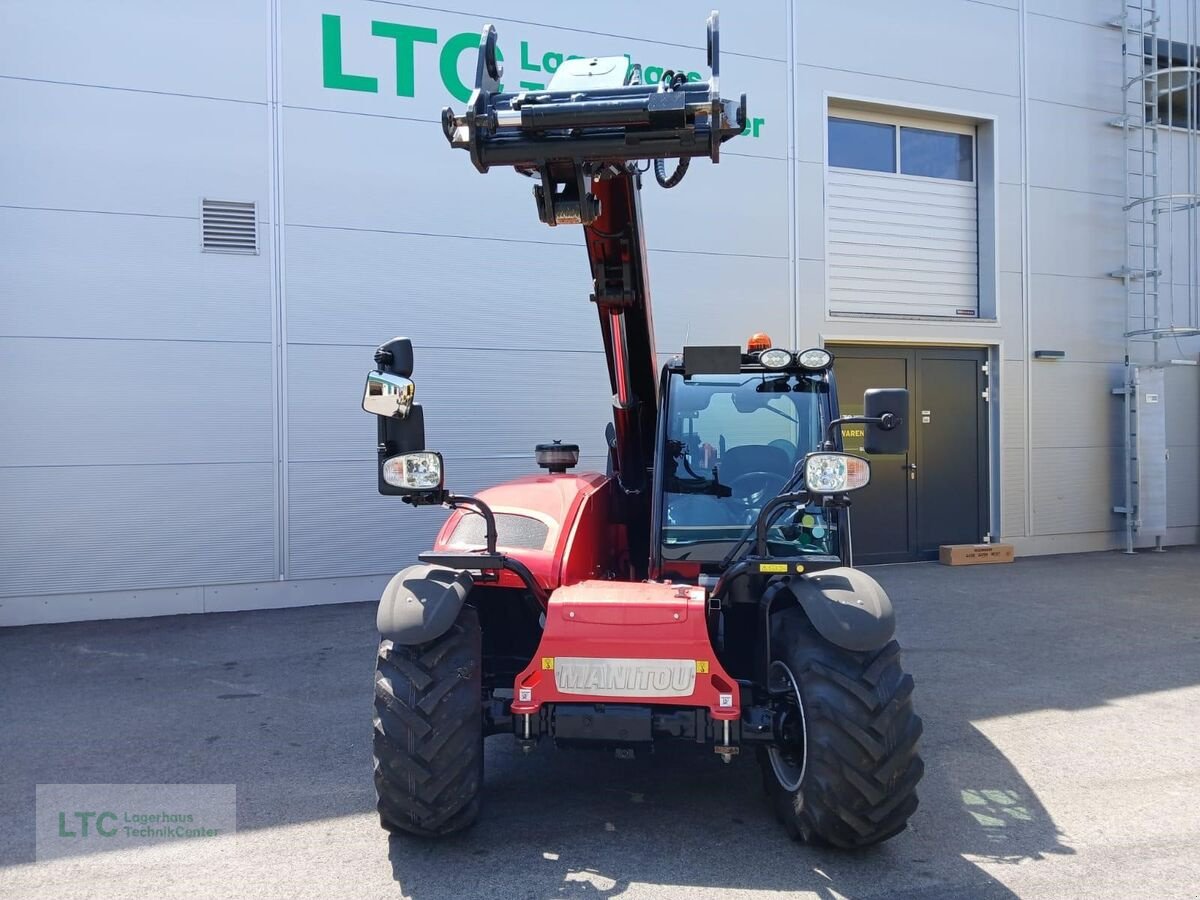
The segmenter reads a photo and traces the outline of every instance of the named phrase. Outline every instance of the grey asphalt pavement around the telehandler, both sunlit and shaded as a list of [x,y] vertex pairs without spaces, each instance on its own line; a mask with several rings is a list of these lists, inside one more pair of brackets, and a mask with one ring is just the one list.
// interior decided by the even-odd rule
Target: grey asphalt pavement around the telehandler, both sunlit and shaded
[[[0,630],[4,898],[1200,898],[1200,550],[878,566],[925,720],[907,832],[793,844],[752,757],[487,742],[486,806],[378,827],[373,606]],[[35,862],[37,784],[235,784],[238,832]]]

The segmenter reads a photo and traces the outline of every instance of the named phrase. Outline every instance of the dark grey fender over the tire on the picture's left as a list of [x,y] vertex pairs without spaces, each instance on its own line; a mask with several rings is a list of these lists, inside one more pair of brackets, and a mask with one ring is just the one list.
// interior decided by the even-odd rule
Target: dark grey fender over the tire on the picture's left
[[379,636],[408,646],[440,637],[458,618],[472,584],[469,572],[440,565],[410,565],[397,572],[379,598]]

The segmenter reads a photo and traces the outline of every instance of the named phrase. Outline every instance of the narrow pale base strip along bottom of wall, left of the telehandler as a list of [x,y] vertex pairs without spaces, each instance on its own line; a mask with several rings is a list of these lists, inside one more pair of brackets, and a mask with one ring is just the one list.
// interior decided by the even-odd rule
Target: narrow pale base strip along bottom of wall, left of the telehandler
[[0,626],[377,600],[390,575],[0,598]]

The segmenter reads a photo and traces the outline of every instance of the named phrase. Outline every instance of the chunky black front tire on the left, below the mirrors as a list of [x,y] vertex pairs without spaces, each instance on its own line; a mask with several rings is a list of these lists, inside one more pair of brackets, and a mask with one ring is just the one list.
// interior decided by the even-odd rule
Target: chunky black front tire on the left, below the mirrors
[[428,643],[379,644],[372,750],[379,823],[388,830],[440,838],[479,816],[481,655],[472,606]]

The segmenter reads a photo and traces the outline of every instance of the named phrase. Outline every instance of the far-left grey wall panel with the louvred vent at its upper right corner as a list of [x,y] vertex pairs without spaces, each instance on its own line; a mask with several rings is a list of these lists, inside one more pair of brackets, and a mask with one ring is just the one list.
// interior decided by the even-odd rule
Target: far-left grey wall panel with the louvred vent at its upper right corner
[[199,252],[196,218],[0,208],[0,234],[2,335],[271,338],[266,228],[259,256]]

